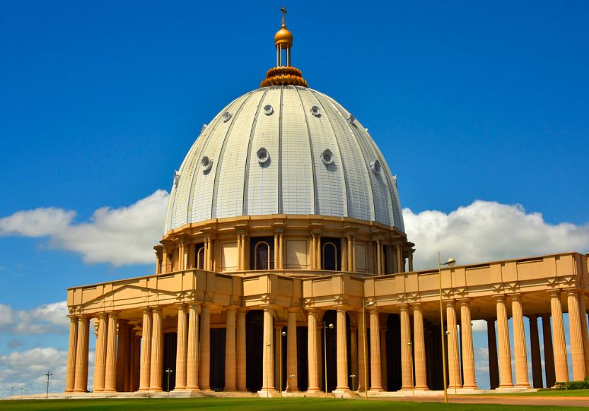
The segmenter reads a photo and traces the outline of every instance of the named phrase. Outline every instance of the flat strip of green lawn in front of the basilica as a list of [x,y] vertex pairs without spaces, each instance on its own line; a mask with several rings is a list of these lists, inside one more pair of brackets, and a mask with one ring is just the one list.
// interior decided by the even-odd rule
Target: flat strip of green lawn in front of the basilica
[[[0,410],[496,410],[498,405],[401,403],[389,401],[334,400],[323,398],[191,398],[191,399],[98,399],[0,401]],[[501,405],[502,410],[537,410],[537,407]],[[545,407],[550,410],[581,410],[577,407]],[[586,410],[586,408],[584,409]]]

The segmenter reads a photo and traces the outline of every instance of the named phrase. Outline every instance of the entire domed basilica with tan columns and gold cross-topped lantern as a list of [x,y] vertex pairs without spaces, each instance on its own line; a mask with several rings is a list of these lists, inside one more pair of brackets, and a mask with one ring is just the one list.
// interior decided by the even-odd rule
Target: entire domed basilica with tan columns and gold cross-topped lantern
[[477,392],[481,319],[491,388],[589,375],[587,256],[414,270],[396,177],[291,65],[285,13],[276,66],[174,173],[155,272],[68,289],[66,393]]

